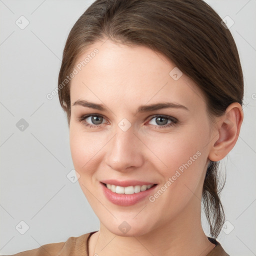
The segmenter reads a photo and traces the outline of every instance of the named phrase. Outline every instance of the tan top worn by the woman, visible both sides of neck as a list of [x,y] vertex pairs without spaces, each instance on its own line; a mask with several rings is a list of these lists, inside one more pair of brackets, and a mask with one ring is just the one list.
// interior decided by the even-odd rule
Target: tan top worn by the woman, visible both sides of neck
[[[36,249],[18,252],[9,256],[88,256],[88,240],[95,232],[97,231],[82,234],[77,237],[71,236],[65,242],[48,243]],[[208,237],[208,239],[215,244],[215,247],[207,256],[229,256],[218,241],[210,237]]]

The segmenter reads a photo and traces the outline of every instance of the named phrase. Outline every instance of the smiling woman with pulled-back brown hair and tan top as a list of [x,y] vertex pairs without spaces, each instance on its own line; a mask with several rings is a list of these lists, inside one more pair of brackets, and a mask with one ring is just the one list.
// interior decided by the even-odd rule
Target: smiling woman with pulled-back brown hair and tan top
[[239,135],[243,76],[211,7],[96,0],[69,33],[58,93],[100,229],[15,255],[228,255],[217,172]]

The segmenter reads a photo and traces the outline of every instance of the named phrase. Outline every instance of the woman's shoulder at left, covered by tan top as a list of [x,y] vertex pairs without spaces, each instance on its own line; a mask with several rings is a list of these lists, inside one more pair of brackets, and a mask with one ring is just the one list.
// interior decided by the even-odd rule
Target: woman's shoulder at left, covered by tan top
[[[86,255],[86,242],[91,233],[80,236],[71,236],[65,242],[48,243],[38,248],[21,251],[12,255],[3,256],[62,256],[74,253],[76,255]],[[71,254],[70,254],[71,255]]]

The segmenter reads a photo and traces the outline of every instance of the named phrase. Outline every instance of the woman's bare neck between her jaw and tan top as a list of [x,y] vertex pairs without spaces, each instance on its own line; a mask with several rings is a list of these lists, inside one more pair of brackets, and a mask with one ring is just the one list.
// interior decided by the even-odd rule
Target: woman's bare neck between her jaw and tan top
[[[144,235],[119,236],[110,232],[102,223],[89,241],[89,256],[94,255],[207,255],[215,246],[204,234],[201,226],[200,204],[187,205],[178,216]],[[199,201],[199,200],[198,200]],[[197,207],[195,207],[197,204]]]

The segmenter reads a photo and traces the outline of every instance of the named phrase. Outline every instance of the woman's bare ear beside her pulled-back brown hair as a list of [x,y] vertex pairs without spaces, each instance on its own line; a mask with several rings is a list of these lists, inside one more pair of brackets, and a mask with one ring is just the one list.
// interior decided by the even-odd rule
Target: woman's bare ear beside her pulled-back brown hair
[[219,161],[229,153],[239,136],[242,120],[241,105],[238,102],[231,103],[217,121],[217,135],[212,140],[209,160]]

